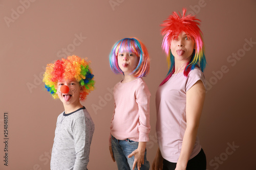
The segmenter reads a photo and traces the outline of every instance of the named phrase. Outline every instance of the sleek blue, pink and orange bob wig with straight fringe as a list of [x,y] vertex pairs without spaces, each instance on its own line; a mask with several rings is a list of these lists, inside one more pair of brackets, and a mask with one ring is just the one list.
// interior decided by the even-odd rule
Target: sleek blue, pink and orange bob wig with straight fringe
[[138,38],[124,38],[116,42],[110,53],[110,67],[116,74],[123,74],[123,71],[118,66],[118,53],[132,52],[139,57],[138,66],[133,70],[134,77],[146,77],[150,71],[150,57],[148,56],[146,46]]

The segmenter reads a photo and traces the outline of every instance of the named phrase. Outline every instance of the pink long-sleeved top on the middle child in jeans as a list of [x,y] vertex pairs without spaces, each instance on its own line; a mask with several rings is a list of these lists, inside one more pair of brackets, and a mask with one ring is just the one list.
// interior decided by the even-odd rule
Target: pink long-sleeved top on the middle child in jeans
[[119,140],[149,141],[151,94],[146,83],[141,78],[129,83],[119,82],[113,92],[111,135]]

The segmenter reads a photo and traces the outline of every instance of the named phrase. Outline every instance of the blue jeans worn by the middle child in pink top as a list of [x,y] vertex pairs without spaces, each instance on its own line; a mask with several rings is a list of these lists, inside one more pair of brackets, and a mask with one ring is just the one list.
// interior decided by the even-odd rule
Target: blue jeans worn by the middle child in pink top
[[[131,158],[128,158],[128,155],[130,155],[133,151],[135,151],[138,148],[139,142],[136,142],[130,139],[118,140],[112,136],[111,143],[112,143],[111,145],[112,145],[114,158],[117,163],[117,168],[120,170],[133,169],[134,156]],[[135,166],[134,169],[135,170],[138,169],[137,165]],[[146,160],[146,150],[144,155],[144,164],[141,164],[140,169],[141,170],[150,169],[150,162]]]

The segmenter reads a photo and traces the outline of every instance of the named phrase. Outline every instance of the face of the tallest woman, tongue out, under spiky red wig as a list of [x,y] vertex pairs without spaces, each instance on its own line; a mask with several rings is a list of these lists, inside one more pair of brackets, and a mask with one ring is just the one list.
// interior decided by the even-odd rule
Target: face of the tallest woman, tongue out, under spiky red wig
[[189,62],[195,49],[195,42],[182,31],[179,36],[173,38],[170,43],[170,51],[176,60]]

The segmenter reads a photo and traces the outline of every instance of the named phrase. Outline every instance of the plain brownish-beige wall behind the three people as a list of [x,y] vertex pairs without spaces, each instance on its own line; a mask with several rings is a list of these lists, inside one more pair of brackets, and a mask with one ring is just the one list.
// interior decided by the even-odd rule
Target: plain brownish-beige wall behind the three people
[[[252,0],[0,1],[0,169],[50,169],[56,118],[63,106],[46,92],[41,79],[47,63],[67,54],[88,57],[95,75],[95,91],[83,103],[96,127],[88,167],[117,169],[108,148],[113,112],[109,89],[121,76],[111,71],[108,55],[112,45],[125,37],[138,37],[151,57],[150,74],[144,80],[152,93],[147,145],[152,165],[157,150],[155,93],[167,73],[159,25],[183,7],[202,20],[204,33],[208,92],[198,133],[207,169],[255,169],[256,2]],[[9,114],[8,167],[3,162],[4,112]]]

